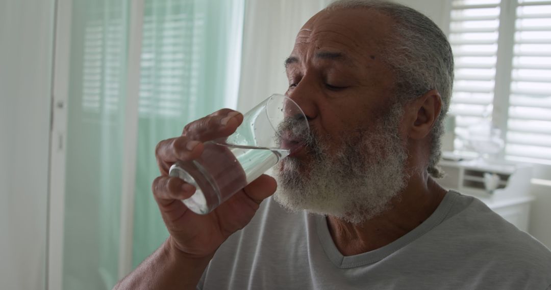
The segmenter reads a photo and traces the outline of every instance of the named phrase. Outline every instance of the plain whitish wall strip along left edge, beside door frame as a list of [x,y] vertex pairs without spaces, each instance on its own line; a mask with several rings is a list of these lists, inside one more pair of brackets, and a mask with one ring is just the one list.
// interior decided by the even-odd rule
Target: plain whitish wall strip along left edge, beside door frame
[[53,0],[0,1],[0,287],[44,289]]

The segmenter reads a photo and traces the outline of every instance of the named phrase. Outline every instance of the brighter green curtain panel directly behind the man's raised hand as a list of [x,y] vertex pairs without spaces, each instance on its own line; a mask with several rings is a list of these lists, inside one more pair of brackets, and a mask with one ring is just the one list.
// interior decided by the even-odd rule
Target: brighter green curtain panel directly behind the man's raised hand
[[[151,183],[154,150],[188,122],[234,107],[244,0],[146,0],[139,97],[133,265],[168,237]],[[237,66],[237,68],[235,67]]]

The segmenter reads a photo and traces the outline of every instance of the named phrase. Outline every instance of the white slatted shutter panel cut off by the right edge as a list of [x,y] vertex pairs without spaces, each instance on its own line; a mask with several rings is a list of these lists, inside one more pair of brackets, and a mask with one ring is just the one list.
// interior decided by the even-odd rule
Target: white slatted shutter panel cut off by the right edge
[[551,1],[518,0],[505,157],[551,163]]

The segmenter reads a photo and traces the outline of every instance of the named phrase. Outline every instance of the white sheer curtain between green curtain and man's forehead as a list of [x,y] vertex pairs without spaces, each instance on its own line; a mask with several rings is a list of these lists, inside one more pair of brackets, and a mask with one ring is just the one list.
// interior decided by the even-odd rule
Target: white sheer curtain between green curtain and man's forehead
[[247,111],[272,93],[287,91],[283,62],[300,27],[331,0],[247,1],[237,108]]

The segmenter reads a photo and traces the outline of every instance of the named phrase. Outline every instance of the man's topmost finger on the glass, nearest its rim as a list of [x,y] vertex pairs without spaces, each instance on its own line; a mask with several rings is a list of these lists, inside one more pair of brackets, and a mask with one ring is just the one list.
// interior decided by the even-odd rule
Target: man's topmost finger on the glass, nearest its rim
[[202,142],[227,137],[235,132],[242,121],[241,113],[224,109],[187,124],[182,135]]

